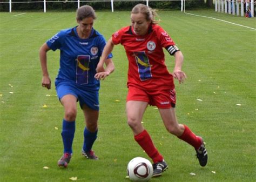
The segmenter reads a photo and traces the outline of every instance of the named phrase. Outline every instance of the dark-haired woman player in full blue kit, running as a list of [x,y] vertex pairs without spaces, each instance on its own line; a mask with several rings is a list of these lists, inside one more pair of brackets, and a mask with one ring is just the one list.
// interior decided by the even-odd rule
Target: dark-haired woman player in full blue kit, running
[[81,6],[77,10],[76,19],[78,26],[59,31],[44,43],[39,51],[43,72],[42,86],[51,89],[46,54],[50,49],[60,50],[60,68],[55,86],[65,111],[62,127],[64,154],[58,160],[58,166],[63,167],[68,166],[72,156],[78,101],[86,123],[82,154],[89,159],[98,159],[92,151],[92,145],[98,132],[99,79],[106,78],[114,71],[110,54],[106,60],[105,71],[96,72],[106,41],[93,29],[93,22],[96,19],[93,8],[89,5]]

